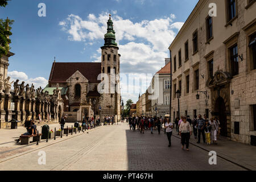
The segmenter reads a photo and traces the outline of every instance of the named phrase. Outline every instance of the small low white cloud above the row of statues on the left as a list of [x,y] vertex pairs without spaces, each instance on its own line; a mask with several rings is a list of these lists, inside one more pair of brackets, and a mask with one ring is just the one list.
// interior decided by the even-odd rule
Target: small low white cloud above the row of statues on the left
[[44,77],[36,77],[36,78],[28,78],[26,73],[24,72],[18,72],[18,71],[11,71],[7,73],[8,76],[11,77],[11,81],[16,81],[16,79],[19,80],[19,83],[24,81],[26,84],[29,84],[30,86],[32,84],[35,85],[35,88],[38,88],[41,86],[42,88],[45,88],[46,85],[48,84],[48,80]]

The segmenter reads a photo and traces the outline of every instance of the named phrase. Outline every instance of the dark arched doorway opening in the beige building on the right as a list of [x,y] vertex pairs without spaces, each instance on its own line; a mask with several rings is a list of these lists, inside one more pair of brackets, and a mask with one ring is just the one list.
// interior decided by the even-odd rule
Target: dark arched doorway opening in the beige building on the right
[[214,111],[218,115],[221,127],[221,136],[228,137],[227,117],[226,117],[226,105],[222,97],[218,97],[215,102]]

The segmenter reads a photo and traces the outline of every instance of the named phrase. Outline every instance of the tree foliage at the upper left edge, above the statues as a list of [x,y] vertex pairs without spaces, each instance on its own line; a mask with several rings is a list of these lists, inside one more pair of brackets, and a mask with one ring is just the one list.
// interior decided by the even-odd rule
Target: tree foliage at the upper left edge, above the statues
[[[5,7],[9,0],[0,0],[0,6]],[[11,43],[11,40],[9,39],[10,35],[13,35],[11,33],[11,27],[10,25],[13,24],[14,20],[10,19],[0,19],[0,57],[2,55],[7,55],[8,51],[10,50],[9,44]]]

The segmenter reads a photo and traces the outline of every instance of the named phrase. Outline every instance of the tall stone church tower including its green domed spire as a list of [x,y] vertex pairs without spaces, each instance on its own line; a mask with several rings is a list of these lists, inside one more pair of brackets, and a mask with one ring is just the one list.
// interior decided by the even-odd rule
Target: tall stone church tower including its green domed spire
[[[109,15],[108,32],[105,34],[105,44],[101,47],[101,73],[105,82],[105,92],[101,94],[101,121],[105,116],[115,116],[115,122],[121,119],[121,95],[119,86],[120,56],[115,43],[115,31],[111,14]],[[117,76],[118,75],[118,76]],[[117,92],[118,91],[118,92]]]

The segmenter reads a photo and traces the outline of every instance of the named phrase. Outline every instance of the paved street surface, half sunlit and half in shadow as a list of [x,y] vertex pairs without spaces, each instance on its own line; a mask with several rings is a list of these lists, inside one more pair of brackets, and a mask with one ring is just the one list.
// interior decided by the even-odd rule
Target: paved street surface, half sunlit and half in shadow
[[[66,139],[65,139],[66,138]],[[53,143],[40,143],[26,154],[0,162],[1,170],[244,170],[217,158],[209,165],[208,152],[191,145],[181,150],[180,139],[172,137],[168,148],[166,135],[144,135],[129,130],[127,123],[104,126],[89,133],[73,134]],[[55,140],[57,141],[57,140]],[[14,144],[14,143],[11,143]],[[20,150],[16,148],[16,150]],[[38,164],[38,152],[46,152],[46,165]],[[19,151],[22,152],[22,151]],[[2,154],[1,154],[2,155]]]

